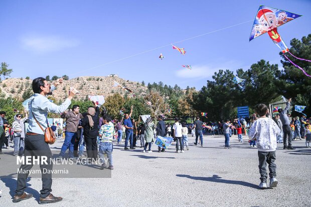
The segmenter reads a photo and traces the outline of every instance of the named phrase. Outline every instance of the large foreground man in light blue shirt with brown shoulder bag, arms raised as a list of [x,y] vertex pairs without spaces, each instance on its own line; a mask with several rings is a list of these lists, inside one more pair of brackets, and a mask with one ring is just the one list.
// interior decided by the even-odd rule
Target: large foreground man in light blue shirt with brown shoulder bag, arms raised
[[[48,127],[47,116],[50,113],[62,113],[71,104],[71,99],[75,95],[75,91],[70,91],[68,98],[61,104],[56,105],[47,99],[47,95],[52,95],[52,91],[56,89],[56,86],[61,84],[63,79],[57,79],[52,85],[44,78],[36,78],[33,80],[32,88],[34,95],[30,98],[29,103],[29,126],[27,128],[25,138],[25,156],[45,156],[47,163],[41,163],[41,171],[46,169],[47,173],[42,173],[42,190],[40,190],[39,203],[52,203],[61,201],[62,197],[54,196],[52,191],[52,171],[53,162],[51,162],[52,152],[48,143],[44,141],[44,129]],[[22,164],[17,179],[17,188],[13,197],[13,202],[20,202],[21,200],[29,199],[33,197],[31,193],[27,194],[26,180],[29,175],[27,173],[33,164]]]

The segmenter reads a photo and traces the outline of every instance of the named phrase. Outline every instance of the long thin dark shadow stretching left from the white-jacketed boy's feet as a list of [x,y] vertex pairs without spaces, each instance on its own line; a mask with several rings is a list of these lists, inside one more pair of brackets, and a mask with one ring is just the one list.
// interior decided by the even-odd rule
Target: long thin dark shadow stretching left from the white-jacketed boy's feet
[[210,181],[210,182],[220,182],[220,183],[227,183],[227,184],[243,185],[246,187],[252,187],[255,189],[260,189],[258,187],[258,185],[255,185],[253,183],[249,183],[249,182],[245,182],[245,181],[239,181],[239,180],[221,179],[221,177],[216,175],[216,174],[214,174],[212,177],[195,177],[195,176],[186,175],[186,174],[177,174],[176,176],[187,177],[187,178],[194,179],[194,180],[203,180],[203,181]]

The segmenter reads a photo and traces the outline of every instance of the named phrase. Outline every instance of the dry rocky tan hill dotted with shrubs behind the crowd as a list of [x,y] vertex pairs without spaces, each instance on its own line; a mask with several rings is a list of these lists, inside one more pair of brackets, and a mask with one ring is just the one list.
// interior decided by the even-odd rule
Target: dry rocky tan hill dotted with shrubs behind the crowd
[[[65,99],[68,96],[69,88],[75,87],[80,93],[77,94],[76,99],[84,100],[87,95],[104,95],[110,96],[114,93],[125,94],[128,93],[122,87],[113,87],[114,81],[124,86],[133,93],[131,95],[141,96],[146,92],[147,87],[141,85],[139,82],[124,80],[118,76],[83,76],[64,81],[53,91],[53,97],[56,100]],[[53,83],[52,81],[49,81]],[[1,82],[0,89],[6,97],[12,96],[22,98],[27,89],[31,89],[32,80],[23,78],[10,78]],[[130,96],[131,96],[130,95]]]

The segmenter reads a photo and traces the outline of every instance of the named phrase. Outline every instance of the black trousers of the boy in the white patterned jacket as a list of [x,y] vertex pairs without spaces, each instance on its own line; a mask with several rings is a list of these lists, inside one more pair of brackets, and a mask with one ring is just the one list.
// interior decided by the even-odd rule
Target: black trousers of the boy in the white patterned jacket
[[267,163],[269,167],[269,176],[270,178],[276,176],[276,164],[275,164],[275,151],[272,152],[262,152],[258,151],[258,158],[259,158],[259,173],[260,173],[260,180],[262,182],[267,181]]

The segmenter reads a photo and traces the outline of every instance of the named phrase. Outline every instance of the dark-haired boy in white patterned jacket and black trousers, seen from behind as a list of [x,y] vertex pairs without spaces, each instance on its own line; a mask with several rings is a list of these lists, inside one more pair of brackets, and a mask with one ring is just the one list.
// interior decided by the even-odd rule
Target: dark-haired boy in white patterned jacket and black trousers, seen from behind
[[258,158],[259,158],[259,173],[260,173],[260,188],[267,188],[267,169],[266,163],[269,165],[270,187],[276,187],[276,164],[275,150],[276,137],[281,130],[276,123],[266,117],[269,113],[268,107],[265,104],[257,104],[255,106],[256,114],[260,116],[254,121],[252,127],[248,131],[250,140],[257,140]]

